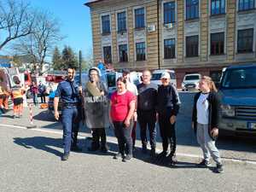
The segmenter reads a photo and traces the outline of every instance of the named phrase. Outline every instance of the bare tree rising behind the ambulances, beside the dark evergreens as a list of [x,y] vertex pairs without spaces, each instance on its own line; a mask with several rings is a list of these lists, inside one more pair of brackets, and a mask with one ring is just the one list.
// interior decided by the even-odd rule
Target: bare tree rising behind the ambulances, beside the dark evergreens
[[55,44],[62,37],[59,22],[52,14],[37,12],[35,15],[33,32],[21,38],[18,44],[14,45],[14,49],[21,55],[31,55],[33,62],[38,64],[39,69],[42,69],[45,58],[52,53]]

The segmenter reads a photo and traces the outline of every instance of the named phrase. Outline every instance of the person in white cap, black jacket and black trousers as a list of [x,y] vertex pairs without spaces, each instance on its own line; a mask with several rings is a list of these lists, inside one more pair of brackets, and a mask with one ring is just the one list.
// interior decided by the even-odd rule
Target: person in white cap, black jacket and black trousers
[[160,126],[160,136],[162,137],[163,151],[160,157],[166,157],[168,143],[170,143],[171,153],[168,158],[174,165],[176,160],[176,133],[175,122],[178,113],[180,100],[176,88],[170,84],[170,74],[161,75],[162,84],[158,88],[157,113]]

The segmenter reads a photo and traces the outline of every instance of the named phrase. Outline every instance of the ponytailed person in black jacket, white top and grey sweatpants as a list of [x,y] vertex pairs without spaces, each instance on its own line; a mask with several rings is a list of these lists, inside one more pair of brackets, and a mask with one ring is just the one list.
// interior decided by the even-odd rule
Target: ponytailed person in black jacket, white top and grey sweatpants
[[215,141],[218,137],[219,98],[212,79],[203,76],[199,82],[200,92],[195,95],[192,128],[203,151],[204,159],[198,166],[210,166],[210,157],[216,162],[216,172],[223,172]]

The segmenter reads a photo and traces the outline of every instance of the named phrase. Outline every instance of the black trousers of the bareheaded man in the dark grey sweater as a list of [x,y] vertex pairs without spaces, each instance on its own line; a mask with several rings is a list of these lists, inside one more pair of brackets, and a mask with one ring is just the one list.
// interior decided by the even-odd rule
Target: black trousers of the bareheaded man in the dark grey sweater
[[147,146],[147,127],[149,131],[150,145],[151,148],[155,148],[155,137],[156,137],[156,127],[155,127],[155,112],[154,111],[138,111],[138,122],[141,127],[141,139],[143,146]]

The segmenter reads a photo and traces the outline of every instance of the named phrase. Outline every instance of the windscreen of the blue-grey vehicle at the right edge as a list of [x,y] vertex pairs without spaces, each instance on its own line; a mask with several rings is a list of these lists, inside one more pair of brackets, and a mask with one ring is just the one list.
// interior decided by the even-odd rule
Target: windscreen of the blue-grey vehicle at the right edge
[[256,88],[256,67],[226,70],[221,85],[227,89]]

